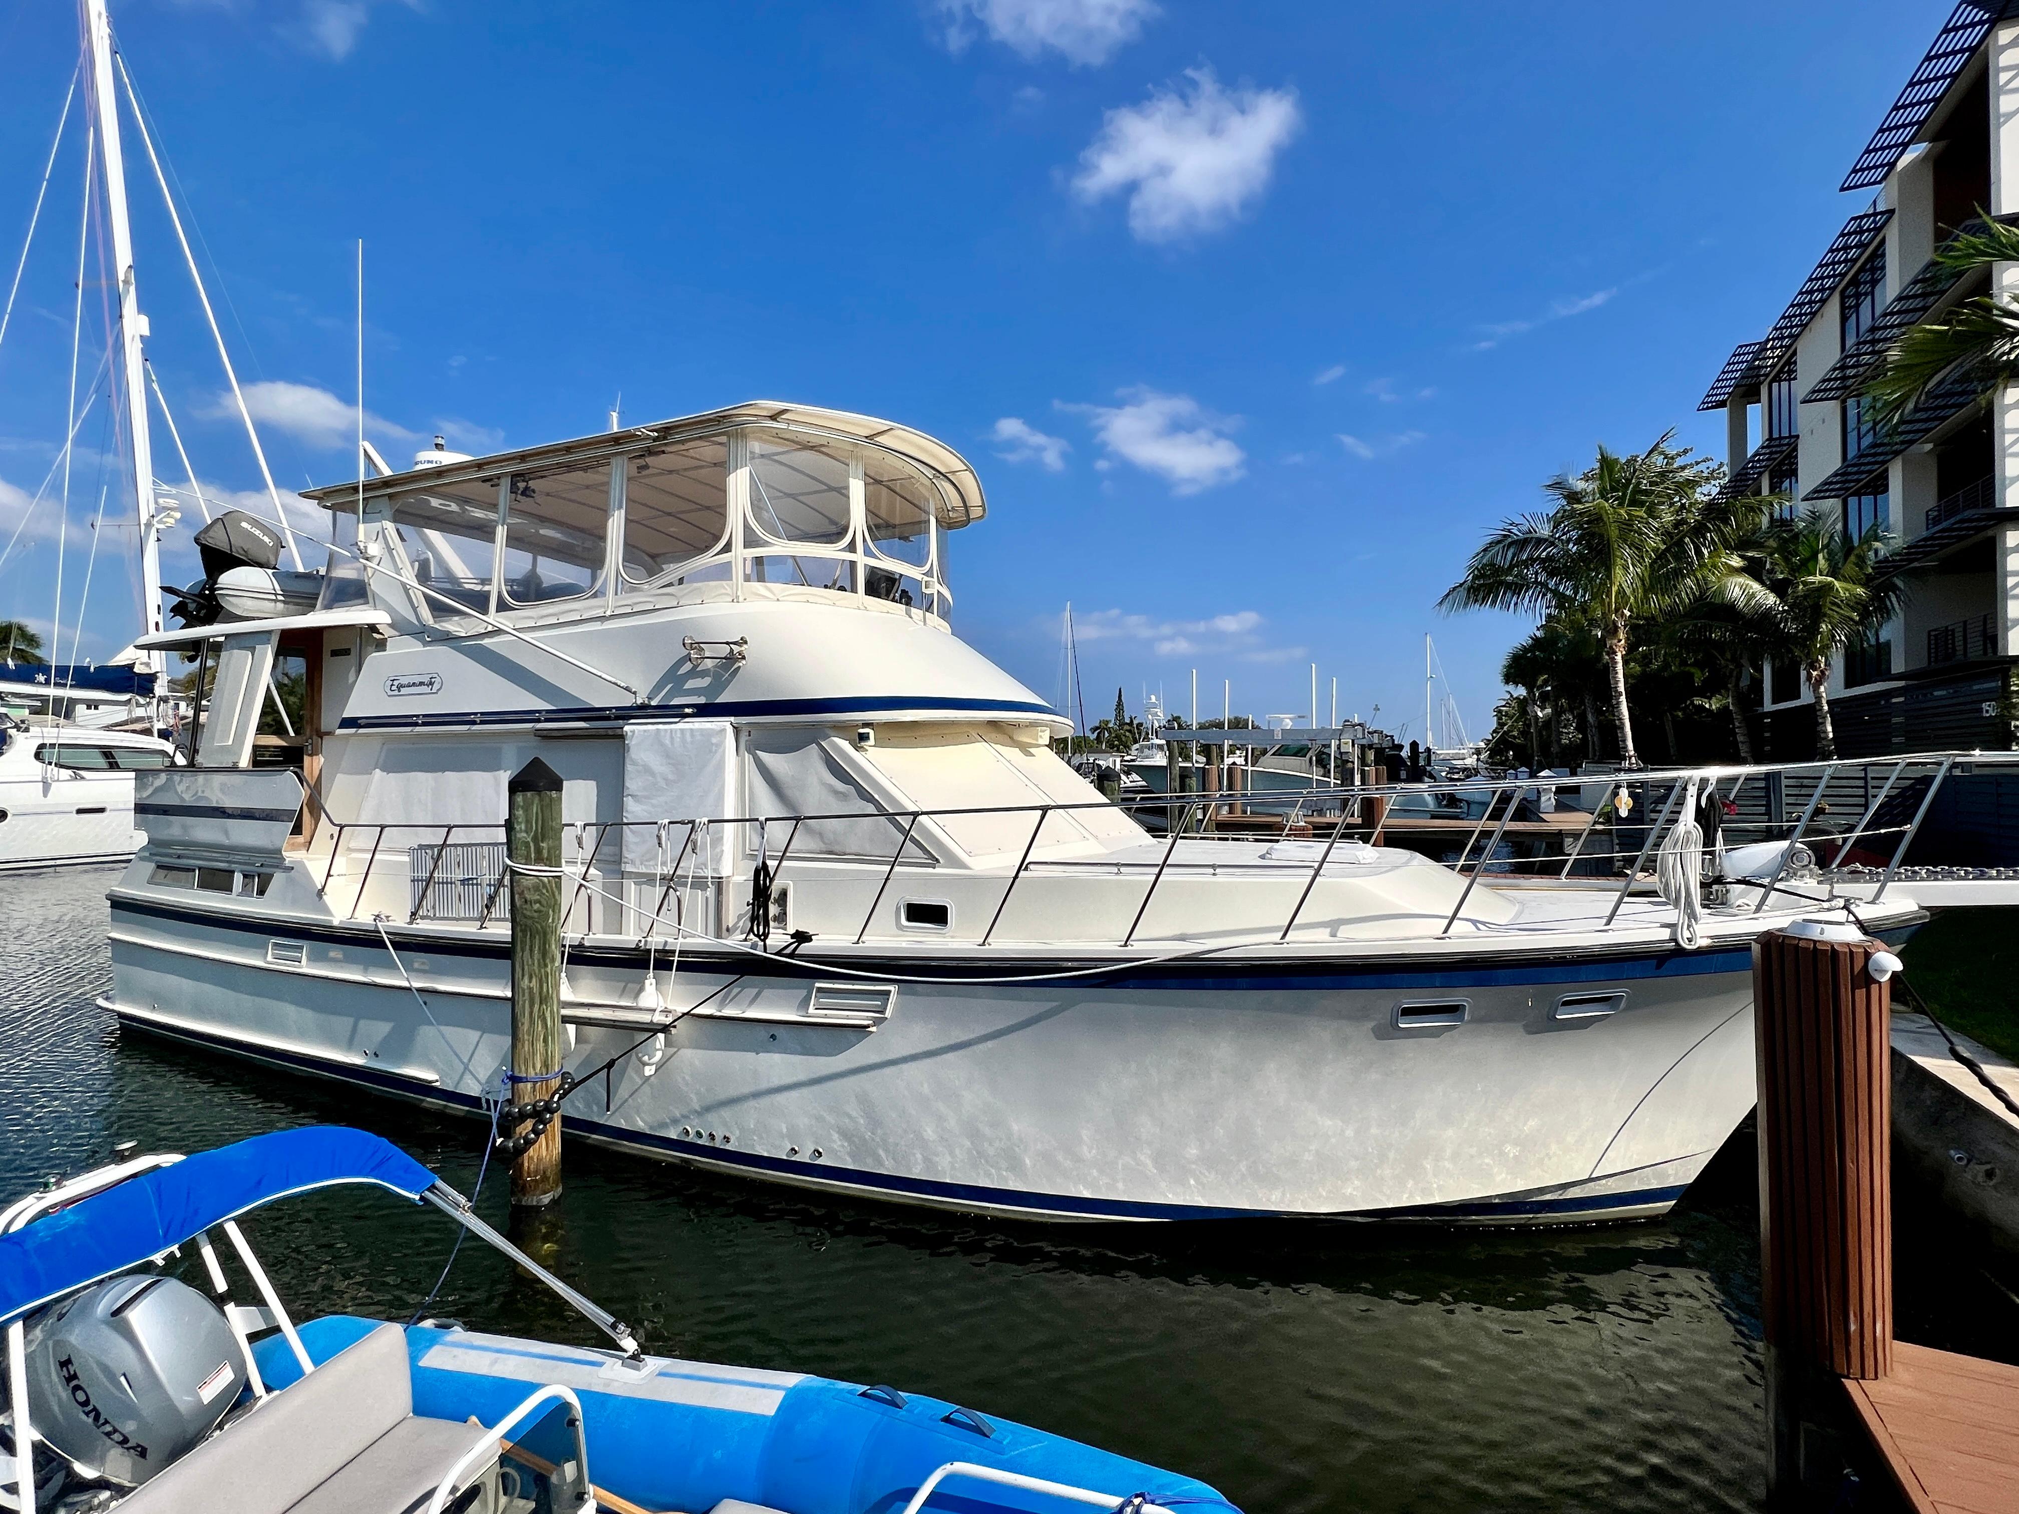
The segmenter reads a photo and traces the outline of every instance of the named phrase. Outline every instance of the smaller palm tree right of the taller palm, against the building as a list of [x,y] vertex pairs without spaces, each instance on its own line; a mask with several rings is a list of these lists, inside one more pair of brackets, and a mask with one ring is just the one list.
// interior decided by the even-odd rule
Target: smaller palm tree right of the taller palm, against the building
[[1801,664],[1815,692],[1815,755],[1837,755],[1829,719],[1829,664],[1900,614],[1906,579],[1888,561],[1890,539],[1872,527],[1851,541],[1827,511],[1785,521],[1775,533],[1765,589],[1773,652]]

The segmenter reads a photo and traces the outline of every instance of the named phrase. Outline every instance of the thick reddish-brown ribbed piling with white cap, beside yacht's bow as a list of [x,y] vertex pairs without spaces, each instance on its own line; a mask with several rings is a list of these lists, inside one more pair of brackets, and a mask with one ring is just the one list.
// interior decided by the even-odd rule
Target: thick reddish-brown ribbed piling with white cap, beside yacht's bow
[[[1892,1371],[1892,989],[1864,931],[1797,921],[1752,945],[1767,1488],[1803,1488],[1829,1377]],[[1823,1470],[1829,1476],[1831,1470]]]

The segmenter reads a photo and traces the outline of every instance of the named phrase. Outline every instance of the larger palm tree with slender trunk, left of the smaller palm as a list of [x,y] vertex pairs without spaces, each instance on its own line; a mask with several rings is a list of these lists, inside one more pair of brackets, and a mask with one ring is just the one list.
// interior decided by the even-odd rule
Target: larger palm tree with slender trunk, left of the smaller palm
[[1532,610],[1597,632],[1627,767],[1639,767],[1627,711],[1633,626],[1704,600],[1757,604],[1761,587],[1732,543],[1773,503],[1720,497],[1724,470],[1670,436],[1627,456],[1601,446],[1585,472],[1553,478],[1555,507],[1504,521],[1438,602],[1446,612]]

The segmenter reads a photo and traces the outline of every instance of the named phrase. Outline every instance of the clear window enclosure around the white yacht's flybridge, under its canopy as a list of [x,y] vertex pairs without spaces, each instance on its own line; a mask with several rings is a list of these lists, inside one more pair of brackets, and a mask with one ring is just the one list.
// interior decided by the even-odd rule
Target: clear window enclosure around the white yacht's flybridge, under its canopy
[[648,591],[840,593],[935,618],[951,600],[941,521],[959,521],[959,503],[876,442],[737,426],[569,466],[402,482],[365,497],[365,521],[392,525],[430,620]]

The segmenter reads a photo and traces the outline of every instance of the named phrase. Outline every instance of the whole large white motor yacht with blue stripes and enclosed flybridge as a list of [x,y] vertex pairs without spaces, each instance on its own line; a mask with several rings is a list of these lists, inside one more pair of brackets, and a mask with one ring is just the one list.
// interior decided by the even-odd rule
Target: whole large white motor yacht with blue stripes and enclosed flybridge
[[[192,765],[137,775],[127,1025],[497,1098],[507,781],[537,757],[596,1141],[1046,1219],[1534,1221],[1666,1209],[1750,1108],[1748,947],[1819,906],[1797,842],[1831,769],[1607,785],[1561,876],[1486,862],[1512,801],[1460,866],[1367,844],[1379,791],[1268,840],[1157,795],[1153,838],[951,632],[985,505],[945,444],[741,404],[424,462],[311,491],[335,545],[287,614],[234,618],[230,567],[220,620],[149,640],[214,692]],[[252,763],[279,656],[301,771]],[[1837,862],[1898,862],[1940,779],[1912,761]],[[1698,826],[1769,789],[1799,822],[1702,882]],[[1890,882],[1855,890],[1876,931],[1920,918]]]

